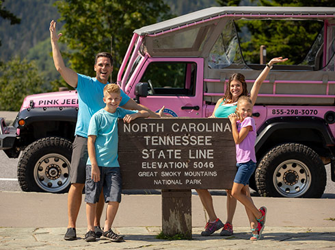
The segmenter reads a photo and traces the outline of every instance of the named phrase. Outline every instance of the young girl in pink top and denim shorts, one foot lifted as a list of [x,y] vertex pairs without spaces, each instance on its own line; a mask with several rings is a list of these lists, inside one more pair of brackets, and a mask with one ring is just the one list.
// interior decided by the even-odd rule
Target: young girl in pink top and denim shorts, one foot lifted
[[267,208],[259,210],[254,205],[250,196],[249,179],[256,168],[255,140],[256,126],[252,116],[252,100],[240,97],[237,101],[236,114],[228,116],[232,123],[232,137],[236,144],[237,173],[232,185],[232,197],[245,206],[245,211],[250,221],[252,237],[258,240],[265,227]]

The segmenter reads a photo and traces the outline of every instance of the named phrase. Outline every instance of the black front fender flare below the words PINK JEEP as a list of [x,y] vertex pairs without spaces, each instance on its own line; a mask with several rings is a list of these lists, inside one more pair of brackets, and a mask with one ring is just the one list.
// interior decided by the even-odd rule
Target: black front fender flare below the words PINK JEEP
[[[77,114],[77,107],[27,108],[18,113],[14,121],[14,127],[21,129],[37,121],[69,121],[76,123]],[[25,125],[19,125],[18,121],[20,120],[24,120]]]

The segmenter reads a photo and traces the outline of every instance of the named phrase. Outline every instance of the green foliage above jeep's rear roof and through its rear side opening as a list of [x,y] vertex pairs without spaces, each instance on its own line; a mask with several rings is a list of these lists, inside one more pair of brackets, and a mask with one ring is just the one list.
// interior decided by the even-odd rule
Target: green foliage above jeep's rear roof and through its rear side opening
[[[221,5],[239,5],[239,0],[217,0]],[[251,1],[254,3],[255,1]],[[324,6],[333,7],[333,0],[259,0],[263,6]],[[310,49],[323,23],[318,21],[238,21],[243,58],[248,63],[259,63],[260,45],[267,47],[267,58],[284,56],[285,64],[299,64]]]

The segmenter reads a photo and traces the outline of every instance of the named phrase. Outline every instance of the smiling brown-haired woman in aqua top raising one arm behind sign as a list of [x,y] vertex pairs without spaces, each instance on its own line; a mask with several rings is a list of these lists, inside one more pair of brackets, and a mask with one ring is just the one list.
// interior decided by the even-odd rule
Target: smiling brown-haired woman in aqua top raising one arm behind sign
[[[254,85],[252,86],[252,90],[250,91],[250,99],[252,101],[252,105],[256,103],[257,95],[260,89],[260,86],[263,84],[263,81],[269,74],[270,69],[273,64],[278,62],[285,62],[288,60],[287,58],[273,58],[270,62],[265,66],[263,71],[257,77]],[[233,74],[228,81],[228,85],[226,91],[224,93],[224,97],[220,98],[214,108],[213,114],[210,117],[218,117],[218,118],[228,118],[229,114],[232,114],[236,110],[237,100],[239,97],[243,95],[248,95],[247,92],[247,84],[245,83],[245,77],[241,73]],[[214,208],[213,208],[213,199],[209,190],[206,189],[197,189],[198,195],[204,205],[204,208],[209,214],[209,222],[206,223],[205,231],[201,233],[202,236],[210,236],[213,232],[218,229],[224,227],[220,235],[230,236],[232,235],[232,218],[235,214],[236,203],[237,200],[232,197],[231,190],[226,190],[227,192],[227,220],[226,223],[222,223],[219,218],[217,218]],[[249,194],[250,195],[250,194]]]

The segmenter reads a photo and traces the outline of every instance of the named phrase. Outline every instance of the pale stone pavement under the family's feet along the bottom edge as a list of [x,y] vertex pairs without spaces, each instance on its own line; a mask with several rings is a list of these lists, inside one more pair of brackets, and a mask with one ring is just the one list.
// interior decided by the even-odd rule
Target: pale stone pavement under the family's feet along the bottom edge
[[193,240],[159,240],[160,227],[117,227],[125,242],[101,238],[85,242],[85,228],[77,229],[78,240],[63,240],[64,227],[0,228],[0,249],[335,249],[332,227],[267,227],[257,242],[249,239],[248,227],[235,228],[233,236],[202,237],[201,227],[193,227]]

